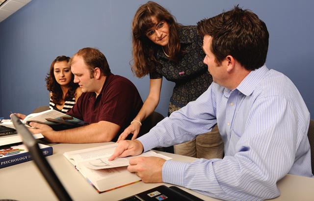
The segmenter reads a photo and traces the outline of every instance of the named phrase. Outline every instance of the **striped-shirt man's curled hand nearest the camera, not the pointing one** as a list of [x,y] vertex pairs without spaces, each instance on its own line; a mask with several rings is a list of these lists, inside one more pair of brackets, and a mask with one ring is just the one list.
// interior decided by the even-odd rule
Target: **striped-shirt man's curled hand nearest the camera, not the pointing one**
[[128,171],[136,173],[141,177],[144,183],[161,183],[162,182],[162,166],[165,159],[151,156],[151,157],[136,157],[130,159]]

